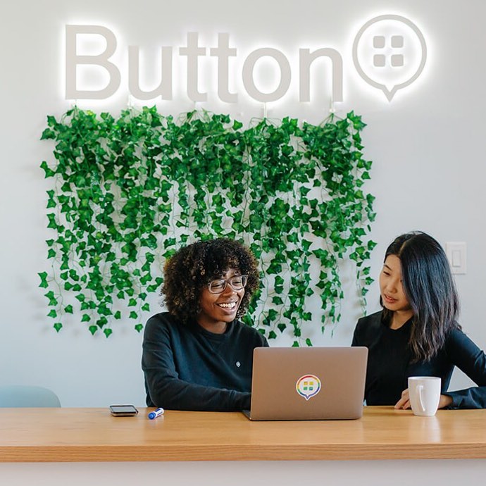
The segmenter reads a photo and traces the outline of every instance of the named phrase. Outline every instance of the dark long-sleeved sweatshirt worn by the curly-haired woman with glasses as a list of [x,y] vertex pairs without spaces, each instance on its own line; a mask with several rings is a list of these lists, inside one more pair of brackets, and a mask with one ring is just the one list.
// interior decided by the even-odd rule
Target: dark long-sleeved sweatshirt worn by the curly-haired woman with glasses
[[250,408],[253,350],[268,347],[260,332],[234,320],[224,334],[196,322],[177,323],[168,312],[145,327],[142,370],[147,406],[172,410]]

